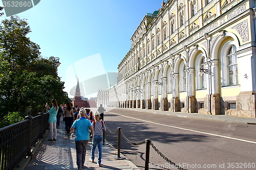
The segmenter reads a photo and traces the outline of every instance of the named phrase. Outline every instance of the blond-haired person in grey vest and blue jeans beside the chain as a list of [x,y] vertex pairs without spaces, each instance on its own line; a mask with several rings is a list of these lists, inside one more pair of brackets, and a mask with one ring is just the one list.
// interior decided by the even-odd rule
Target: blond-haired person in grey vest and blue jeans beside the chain
[[101,166],[103,131],[106,131],[106,127],[103,121],[100,120],[100,114],[98,111],[94,112],[94,119],[95,121],[92,122],[94,136],[92,143],[92,156],[90,158],[90,161],[95,162],[95,149],[96,147],[98,147],[98,165]]

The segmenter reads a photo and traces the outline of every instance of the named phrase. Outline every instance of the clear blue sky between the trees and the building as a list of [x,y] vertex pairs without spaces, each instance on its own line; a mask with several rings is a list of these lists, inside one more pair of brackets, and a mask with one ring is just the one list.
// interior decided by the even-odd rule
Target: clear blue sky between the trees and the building
[[28,19],[32,31],[28,36],[40,46],[42,57],[60,58],[58,75],[73,97],[77,78],[82,82],[118,72],[144,15],[161,4],[161,0],[41,0],[17,15]]

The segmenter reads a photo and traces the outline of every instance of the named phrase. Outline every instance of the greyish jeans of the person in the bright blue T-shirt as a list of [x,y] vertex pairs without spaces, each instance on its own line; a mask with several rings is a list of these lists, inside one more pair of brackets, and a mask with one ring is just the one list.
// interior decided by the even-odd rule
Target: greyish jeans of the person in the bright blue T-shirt
[[76,140],[76,165],[78,169],[82,168],[86,161],[86,147],[89,140]]

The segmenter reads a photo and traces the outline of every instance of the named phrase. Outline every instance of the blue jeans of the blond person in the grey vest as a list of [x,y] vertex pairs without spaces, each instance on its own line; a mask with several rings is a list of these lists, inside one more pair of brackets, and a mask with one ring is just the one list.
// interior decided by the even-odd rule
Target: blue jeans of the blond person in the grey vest
[[92,143],[92,160],[95,158],[95,149],[98,146],[98,163],[101,164],[101,158],[102,158],[102,135],[94,135],[93,137],[93,143]]

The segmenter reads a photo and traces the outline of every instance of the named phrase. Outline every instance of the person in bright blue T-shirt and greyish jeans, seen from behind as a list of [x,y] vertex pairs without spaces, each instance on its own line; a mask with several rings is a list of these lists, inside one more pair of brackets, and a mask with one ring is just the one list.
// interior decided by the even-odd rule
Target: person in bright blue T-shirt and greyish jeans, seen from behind
[[[94,130],[89,119],[86,118],[86,110],[82,109],[79,111],[80,118],[76,119],[73,123],[70,131],[75,133],[75,143],[76,143],[76,164],[77,169],[80,170],[84,167],[84,161],[86,160],[86,147],[89,142],[90,137],[94,135]],[[89,136],[89,129],[92,135]]]

